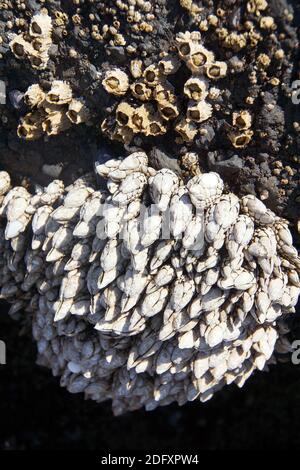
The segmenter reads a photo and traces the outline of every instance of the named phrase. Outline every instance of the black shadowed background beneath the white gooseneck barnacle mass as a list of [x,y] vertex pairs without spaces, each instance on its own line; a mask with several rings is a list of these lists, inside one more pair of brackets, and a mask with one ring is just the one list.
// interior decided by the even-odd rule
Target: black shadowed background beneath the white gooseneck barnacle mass
[[[300,446],[300,365],[257,372],[244,388],[207,402],[114,417],[110,403],[85,401],[35,365],[36,348],[0,305],[0,449],[200,450]],[[294,328],[295,338],[298,327]],[[298,335],[300,338],[300,334]]]

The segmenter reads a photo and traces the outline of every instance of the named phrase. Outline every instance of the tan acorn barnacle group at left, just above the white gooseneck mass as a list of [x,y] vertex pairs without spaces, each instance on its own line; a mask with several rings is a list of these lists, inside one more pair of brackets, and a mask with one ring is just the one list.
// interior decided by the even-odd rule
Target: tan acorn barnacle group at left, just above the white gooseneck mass
[[73,98],[70,85],[62,80],[54,80],[47,92],[39,84],[31,85],[24,102],[31,111],[21,118],[17,134],[26,140],[57,135],[73,124],[86,123],[90,117],[84,100]]

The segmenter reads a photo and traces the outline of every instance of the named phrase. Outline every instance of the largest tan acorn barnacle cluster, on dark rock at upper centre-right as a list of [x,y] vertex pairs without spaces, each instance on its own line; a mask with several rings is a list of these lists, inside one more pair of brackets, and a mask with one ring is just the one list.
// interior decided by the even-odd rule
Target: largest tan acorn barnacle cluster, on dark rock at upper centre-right
[[[147,67],[139,59],[130,63],[129,74],[119,68],[108,70],[102,81],[104,89],[115,96],[126,97],[116,106],[115,117],[107,117],[101,129],[111,139],[130,143],[135,134],[158,136],[174,127],[181,141],[191,142],[199,125],[213,113],[212,104],[218,90],[211,81],[227,74],[226,62],[215,60],[214,54],[201,42],[199,32],[179,33],[176,37],[177,54],[165,53]],[[191,77],[184,83],[182,96],[176,96],[168,77],[176,74],[184,62]],[[187,101],[183,110],[182,99]],[[137,105],[139,103],[139,105]]]

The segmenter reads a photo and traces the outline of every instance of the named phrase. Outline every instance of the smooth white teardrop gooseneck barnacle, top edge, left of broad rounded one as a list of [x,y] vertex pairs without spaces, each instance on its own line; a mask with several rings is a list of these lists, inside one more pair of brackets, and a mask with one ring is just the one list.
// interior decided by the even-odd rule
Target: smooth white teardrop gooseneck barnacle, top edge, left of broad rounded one
[[178,188],[179,180],[173,171],[168,169],[159,170],[150,178],[150,194],[152,201],[160,211],[165,211],[169,201]]

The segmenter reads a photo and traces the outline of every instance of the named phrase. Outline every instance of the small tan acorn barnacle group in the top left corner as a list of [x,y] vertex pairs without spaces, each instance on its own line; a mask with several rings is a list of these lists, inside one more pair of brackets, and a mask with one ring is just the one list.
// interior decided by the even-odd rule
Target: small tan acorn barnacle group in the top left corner
[[9,43],[17,59],[29,59],[34,69],[43,70],[49,60],[52,20],[43,13],[34,15],[30,22],[29,32],[15,35]]

